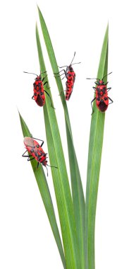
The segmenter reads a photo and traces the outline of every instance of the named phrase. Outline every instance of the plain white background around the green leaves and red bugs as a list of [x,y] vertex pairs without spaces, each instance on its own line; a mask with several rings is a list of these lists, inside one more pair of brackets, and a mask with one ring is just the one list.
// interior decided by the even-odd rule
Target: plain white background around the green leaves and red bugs
[[[75,65],[77,77],[68,110],[84,192],[94,83],[86,77],[97,76],[109,20],[109,72],[113,74],[108,80],[112,87],[109,96],[114,103],[106,111],[97,202],[96,269],[129,268],[128,1],[38,0],[37,4],[46,20],[58,64],[70,64],[74,52],[75,62],[81,62]],[[47,151],[42,108],[31,100],[35,76],[23,73],[39,74],[36,1],[3,1],[0,18],[0,268],[61,269],[63,266],[32,168],[21,157],[25,149],[17,108],[33,136],[44,139],[44,151]],[[44,47],[43,39],[42,45]],[[45,47],[44,58],[68,165],[63,109]],[[48,183],[56,207],[50,169]]]

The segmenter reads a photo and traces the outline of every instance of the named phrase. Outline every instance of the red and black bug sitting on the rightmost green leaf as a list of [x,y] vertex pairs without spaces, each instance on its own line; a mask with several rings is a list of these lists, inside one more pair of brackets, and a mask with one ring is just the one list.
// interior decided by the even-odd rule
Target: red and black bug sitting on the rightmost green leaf
[[[109,74],[111,74],[111,73],[109,73]],[[109,74],[107,74],[106,76],[108,76]],[[106,76],[104,76],[104,77],[106,77]],[[104,77],[102,79],[97,79],[97,81],[95,81],[95,84],[97,85],[96,87],[93,87],[94,91],[95,91],[95,97],[91,102],[91,105],[92,105],[94,100],[96,100],[97,108],[103,113],[106,111],[109,104],[113,103],[111,98],[108,96],[108,91],[110,91],[111,88],[106,87],[106,85],[109,82],[107,81],[105,84]],[[109,103],[109,100],[111,101],[111,103]],[[94,113],[93,106],[92,106],[92,113]]]

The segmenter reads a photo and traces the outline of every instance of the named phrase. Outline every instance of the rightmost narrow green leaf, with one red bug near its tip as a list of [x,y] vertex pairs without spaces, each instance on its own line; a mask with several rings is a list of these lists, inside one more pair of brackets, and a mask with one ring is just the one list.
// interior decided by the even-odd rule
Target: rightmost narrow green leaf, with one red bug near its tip
[[[102,79],[107,74],[108,67],[108,40],[109,27],[106,28],[102,53],[99,62],[97,78]],[[106,78],[104,79],[106,82]],[[90,126],[90,143],[87,164],[87,190],[86,190],[86,268],[94,269],[94,228],[97,207],[97,193],[99,185],[99,171],[102,159],[102,144],[104,136],[105,113],[101,113],[94,102],[94,113]]]

